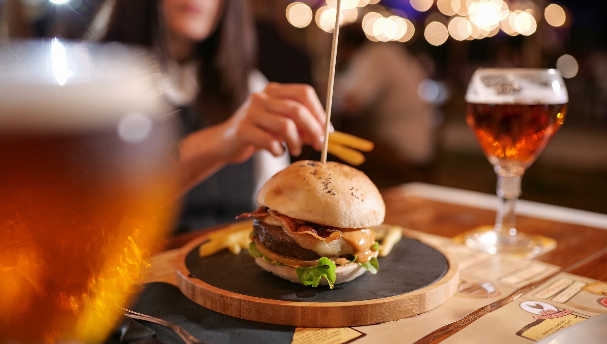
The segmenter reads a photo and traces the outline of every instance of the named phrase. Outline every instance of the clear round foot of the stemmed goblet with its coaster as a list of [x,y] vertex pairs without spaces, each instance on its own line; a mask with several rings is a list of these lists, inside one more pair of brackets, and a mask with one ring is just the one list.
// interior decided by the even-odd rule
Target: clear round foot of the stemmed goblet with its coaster
[[481,227],[464,233],[463,243],[491,254],[515,254],[532,259],[556,247],[556,240],[534,234],[501,234],[492,227]]

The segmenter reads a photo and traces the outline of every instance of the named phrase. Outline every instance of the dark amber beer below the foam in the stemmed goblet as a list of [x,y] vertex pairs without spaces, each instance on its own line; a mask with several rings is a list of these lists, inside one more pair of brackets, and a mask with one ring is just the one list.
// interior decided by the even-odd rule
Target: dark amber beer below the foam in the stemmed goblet
[[567,104],[468,104],[466,119],[493,165],[527,168],[566,111]]

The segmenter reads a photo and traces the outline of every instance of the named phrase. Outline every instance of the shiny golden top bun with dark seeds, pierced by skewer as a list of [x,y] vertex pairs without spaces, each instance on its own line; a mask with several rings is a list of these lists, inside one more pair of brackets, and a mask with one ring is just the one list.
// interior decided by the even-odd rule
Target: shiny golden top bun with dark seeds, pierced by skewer
[[294,162],[263,185],[257,203],[328,227],[374,227],[385,216],[384,199],[369,177],[332,161]]

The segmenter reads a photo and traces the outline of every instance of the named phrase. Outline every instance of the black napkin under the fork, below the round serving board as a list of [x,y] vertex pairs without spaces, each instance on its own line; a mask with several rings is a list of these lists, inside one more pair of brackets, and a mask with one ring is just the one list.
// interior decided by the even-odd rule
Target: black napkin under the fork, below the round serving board
[[[168,283],[148,283],[131,309],[175,323],[209,344],[290,344],[293,326],[242,320],[206,309]],[[143,325],[143,326],[141,326]],[[124,320],[106,344],[183,344],[171,329],[149,322]]]

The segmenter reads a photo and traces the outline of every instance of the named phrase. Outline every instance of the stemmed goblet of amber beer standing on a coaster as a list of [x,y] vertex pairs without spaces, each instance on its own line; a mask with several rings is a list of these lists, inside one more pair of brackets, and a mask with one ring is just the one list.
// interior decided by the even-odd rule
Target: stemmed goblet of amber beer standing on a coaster
[[466,93],[466,120],[497,174],[499,203],[493,230],[468,234],[466,245],[526,257],[547,249],[517,231],[515,203],[524,171],[563,124],[568,101],[565,82],[554,69],[475,71]]

